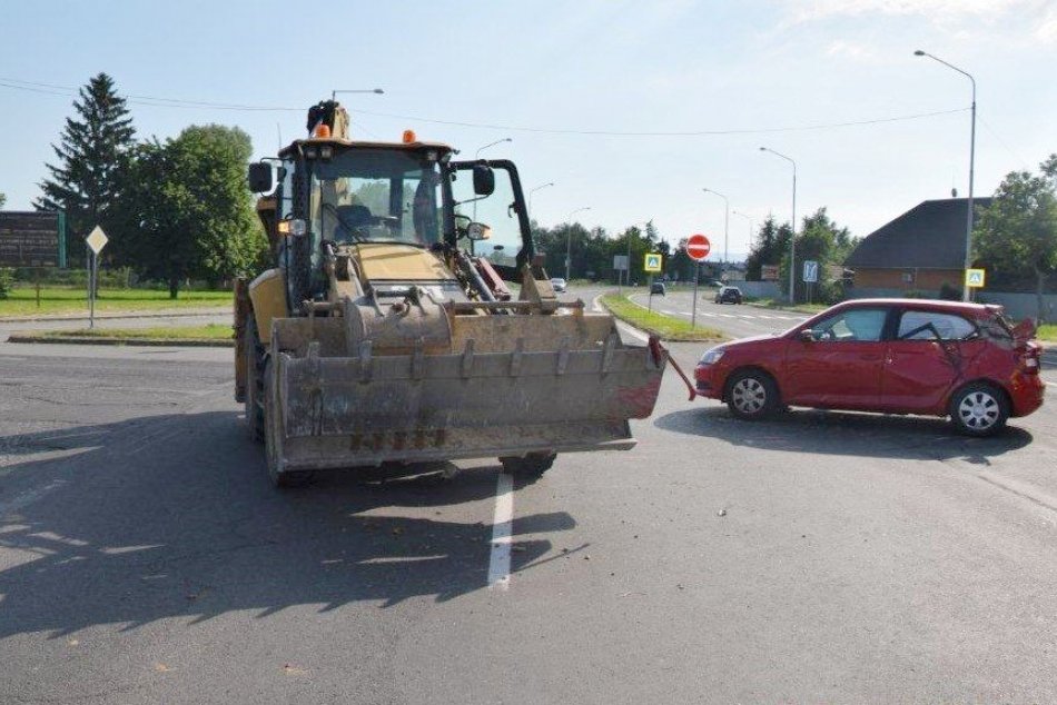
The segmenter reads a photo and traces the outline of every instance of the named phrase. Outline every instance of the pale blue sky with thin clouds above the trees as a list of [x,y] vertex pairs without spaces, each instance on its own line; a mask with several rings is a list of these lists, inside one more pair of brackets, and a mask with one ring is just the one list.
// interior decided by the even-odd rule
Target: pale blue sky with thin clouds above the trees
[[[969,81],[913,57],[918,48],[977,79],[977,195],[1057,151],[1053,0],[309,7],[3,0],[0,83],[76,88],[106,71],[126,96],[286,108],[129,106],[140,137],[237,125],[259,156],[275,152],[279,132],[302,136],[305,109],[332,90],[381,87],[383,96],[344,97],[354,136],[395,140],[412,128],[464,155],[511,137],[482,156],[513,159],[528,186],[555,182],[533,199],[540,221],[590,207],[576,216],[589,227],[612,232],[653,219],[673,242],[705,232],[713,251],[723,201],[702,188],[757,222],[770,211],[789,217],[790,167],[761,145],[797,160],[800,215],[827,206],[858,236],[952,186],[965,195]],[[71,113],[72,91],[43,90],[52,92],[0,85],[8,208],[28,208],[39,193],[50,143]],[[944,111],[959,112],[787,129]],[[731,215],[731,254],[744,252],[747,239],[748,221]]]

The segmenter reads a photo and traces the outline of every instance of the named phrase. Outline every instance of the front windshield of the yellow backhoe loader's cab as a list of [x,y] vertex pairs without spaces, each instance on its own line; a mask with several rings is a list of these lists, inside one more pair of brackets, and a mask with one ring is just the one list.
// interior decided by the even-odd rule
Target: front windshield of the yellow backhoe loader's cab
[[355,149],[314,161],[313,251],[322,240],[437,242],[441,199],[435,157],[405,149]]

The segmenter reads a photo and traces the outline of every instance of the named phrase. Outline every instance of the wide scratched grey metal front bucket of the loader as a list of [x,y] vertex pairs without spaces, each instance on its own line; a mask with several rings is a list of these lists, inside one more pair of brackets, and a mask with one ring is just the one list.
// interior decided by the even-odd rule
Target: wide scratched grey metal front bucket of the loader
[[531,453],[625,450],[668,361],[616,334],[590,350],[326,357],[278,352],[268,380],[275,473]]

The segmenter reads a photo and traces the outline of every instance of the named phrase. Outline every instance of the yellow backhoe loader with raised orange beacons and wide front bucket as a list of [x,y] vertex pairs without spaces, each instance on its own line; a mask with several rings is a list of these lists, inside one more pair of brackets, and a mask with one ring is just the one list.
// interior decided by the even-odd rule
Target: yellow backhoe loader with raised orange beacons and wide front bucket
[[236,393],[278,486],[323,468],[634,446],[668,355],[559,300],[514,165],[352,141],[334,101],[249,166],[275,267],[236,285]]

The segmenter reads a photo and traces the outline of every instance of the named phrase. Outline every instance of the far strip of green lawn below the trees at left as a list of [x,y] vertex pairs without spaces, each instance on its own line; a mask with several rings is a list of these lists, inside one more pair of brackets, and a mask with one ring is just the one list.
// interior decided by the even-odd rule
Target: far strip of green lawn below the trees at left
[[[162,308],[230,307],[230,291],[181,291],[170,299],[168,291],[148,289],[101,289],[96,299],[97,312],[149,311]],[[87,314],[88,299],[83,289],[48,287],[40,289],[40,307],[32,287],[13,289],[0,299],[0,317],[55,314]]]

